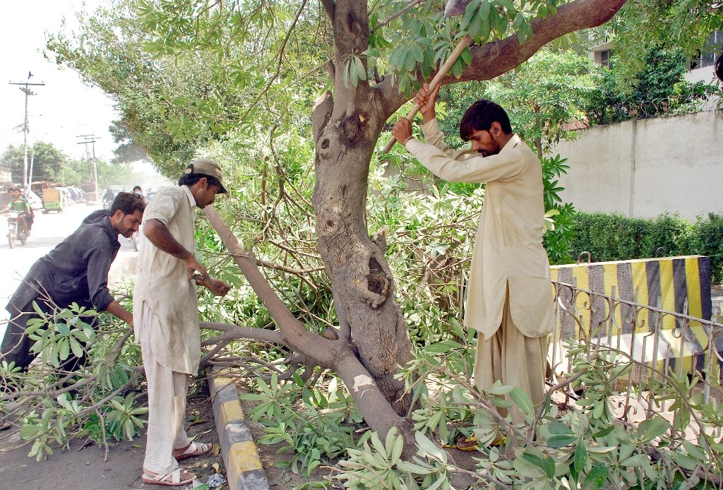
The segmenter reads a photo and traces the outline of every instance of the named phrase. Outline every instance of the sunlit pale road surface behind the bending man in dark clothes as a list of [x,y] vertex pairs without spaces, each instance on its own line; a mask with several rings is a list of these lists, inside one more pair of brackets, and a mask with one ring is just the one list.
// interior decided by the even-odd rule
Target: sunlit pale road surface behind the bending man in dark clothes
[[[12,293],[17,289],[20,280],[27,270],[40,257],[50,252],[57,244],[72,233],[82,222],[83,218],[91,212],[100,209],[98,205],[76,204],[65,207],[64,212],[51,212],[44,215],[35,211],[33,233],[27,239],[27,244],[17,244],[11,249],[7,244],[7,215],[0,215],[0,338],[5,335],[5,326],[9,314],[5,305]],[[123,276],[135,273],[135,257],[137,252],[131,242],[119,236],[121,249],[118,257],[111,267],[111,281],[119,283]],[[1,489],[0,482],[0,489]]]

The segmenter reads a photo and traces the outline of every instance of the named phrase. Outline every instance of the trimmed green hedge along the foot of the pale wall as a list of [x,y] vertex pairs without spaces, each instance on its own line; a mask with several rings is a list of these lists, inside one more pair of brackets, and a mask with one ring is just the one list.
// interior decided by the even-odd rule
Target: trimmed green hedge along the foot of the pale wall
[[674,255],[706,255],[716,283],[723,281],[723,216],[698,216],[695,223],[679,215],[654,220],[601,212],[576,212],[571,253],[590,252],[592,262]]

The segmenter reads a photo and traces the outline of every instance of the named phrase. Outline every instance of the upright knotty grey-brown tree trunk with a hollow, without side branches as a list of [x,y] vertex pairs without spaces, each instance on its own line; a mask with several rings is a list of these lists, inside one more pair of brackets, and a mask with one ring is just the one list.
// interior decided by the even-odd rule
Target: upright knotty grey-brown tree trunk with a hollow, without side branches
[[406,415],[410,397],[394,379],[399,364],[412,358],[412,347],[399,307],[384,248],[367,231],[369,161],[385,116],[367,80],[344,86],[349,56],[361,56],[369,44],[367,2],[335,4],[333,72],[335,93],[313,111],[317,249],[332,282],[338,317],[348,324],[356,355],[369,370],[395,411]]

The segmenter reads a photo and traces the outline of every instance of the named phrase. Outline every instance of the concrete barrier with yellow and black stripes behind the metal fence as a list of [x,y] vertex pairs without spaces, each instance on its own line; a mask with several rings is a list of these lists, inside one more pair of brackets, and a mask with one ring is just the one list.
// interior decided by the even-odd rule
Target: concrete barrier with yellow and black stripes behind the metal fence
[[[615,343],[616,348],[629,349],[640,361],[667,359],[675,369],[681,360],[680,367],[685,370],[690,370],[693,363],[697,369],[703,368],[704,356],[698,354],[707,349],[710,329],[703,328],[701,322],[660,310],[711,319],[708,257],[556,265],[550,267],[550,273],[555,283],[592,293],[565,293],[556,288],[558,311],[561,306],[566,312],[557,315],[556,340],[604,338]],[[651,338],[654,332],[658,332],[659,339]],[[716,338],[715,343],[716,351],[723,351],[723,338]]]

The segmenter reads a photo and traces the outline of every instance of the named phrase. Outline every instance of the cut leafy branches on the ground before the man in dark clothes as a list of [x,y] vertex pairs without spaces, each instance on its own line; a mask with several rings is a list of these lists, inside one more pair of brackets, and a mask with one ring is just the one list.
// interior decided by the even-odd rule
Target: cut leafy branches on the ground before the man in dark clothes
[[122,394],[138,387],[140,349],[118,345],[117,321],[77,305],[38,314],[26,331],[42,362],[26,373],[5,361],[0,365],[0,412],[32,442],[29,455],[39,461],[53,453],[51,444],[67,445],[72,438],[101,443],[140,434],[147,408],[133,392]]

